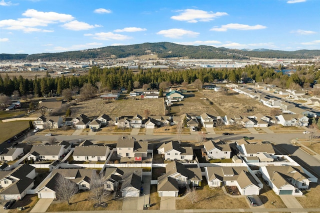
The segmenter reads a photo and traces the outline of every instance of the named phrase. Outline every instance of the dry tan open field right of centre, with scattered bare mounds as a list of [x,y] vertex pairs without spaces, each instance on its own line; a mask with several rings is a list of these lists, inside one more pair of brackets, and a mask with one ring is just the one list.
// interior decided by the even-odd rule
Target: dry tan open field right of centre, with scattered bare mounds
[[213,103],[212,107],[215,108],[220,116],[225,114],[253,115],[255,113],[270,115],[271,108],[235,91],[228,90],[228,95],[212,89],[202,90],[201,93]]

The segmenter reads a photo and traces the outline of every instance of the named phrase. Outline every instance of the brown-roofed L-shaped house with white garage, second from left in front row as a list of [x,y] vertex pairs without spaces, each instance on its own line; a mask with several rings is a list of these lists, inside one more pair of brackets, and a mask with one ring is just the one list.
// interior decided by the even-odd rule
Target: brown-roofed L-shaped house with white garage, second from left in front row
[[36,191],[38,198],[57,198],[56,190],[59,187],[57,184],[59,178],[66,178],[70,184],[77,185],[78,189],[90,189],[90,182],[93,175],[96,174],[96,169],[85,168],[57,168],[53,169],[50,177],[39,185]]

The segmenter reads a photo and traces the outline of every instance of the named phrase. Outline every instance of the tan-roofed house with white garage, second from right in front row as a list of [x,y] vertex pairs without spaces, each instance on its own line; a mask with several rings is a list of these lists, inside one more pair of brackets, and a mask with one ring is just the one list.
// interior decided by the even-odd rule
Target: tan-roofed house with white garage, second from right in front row
[[249,170],[247,166],[204,167],[210,188],[236,186],[241,195],[258,195],[263,184]]

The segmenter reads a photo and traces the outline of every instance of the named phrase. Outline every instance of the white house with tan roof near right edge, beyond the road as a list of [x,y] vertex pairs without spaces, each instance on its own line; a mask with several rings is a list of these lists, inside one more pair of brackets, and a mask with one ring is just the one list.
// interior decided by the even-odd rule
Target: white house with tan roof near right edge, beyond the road
[[275,116],[277,123],[283,126],[307,126],[309,118],[302,114],[280,114]]

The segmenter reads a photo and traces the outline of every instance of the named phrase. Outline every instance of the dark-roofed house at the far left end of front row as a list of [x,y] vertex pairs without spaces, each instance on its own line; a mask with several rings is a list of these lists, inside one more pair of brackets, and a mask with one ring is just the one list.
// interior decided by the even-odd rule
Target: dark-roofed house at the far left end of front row
[[11,171],[0,171],[0,184],[4,188],[0,192],[0,198],[22,199],[27,190],[34,186],[35,176],[35,168],[29,164],[19,165]]

